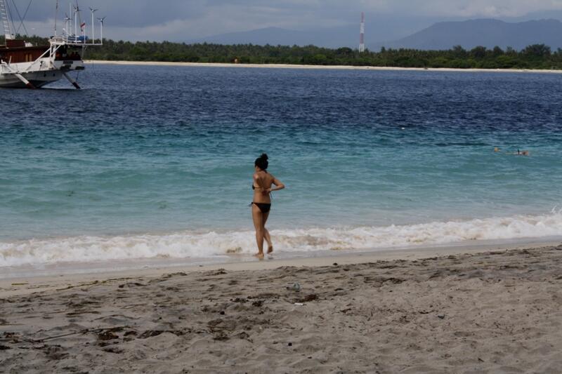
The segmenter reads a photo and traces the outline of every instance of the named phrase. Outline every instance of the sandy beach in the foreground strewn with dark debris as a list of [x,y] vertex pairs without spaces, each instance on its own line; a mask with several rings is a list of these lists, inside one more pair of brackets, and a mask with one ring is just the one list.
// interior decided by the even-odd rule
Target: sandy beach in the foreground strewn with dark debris
[[0,371],[562,372],[562,246],[430,254],[4,280]]

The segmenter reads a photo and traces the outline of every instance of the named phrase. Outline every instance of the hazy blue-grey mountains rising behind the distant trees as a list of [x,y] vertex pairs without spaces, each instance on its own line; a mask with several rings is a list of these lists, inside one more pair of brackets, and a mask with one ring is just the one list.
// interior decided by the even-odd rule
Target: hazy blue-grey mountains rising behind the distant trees
[[[273,46],[324,46],[328,48],[358,47],[358,25],[296,31],[278,27],[255,29],[247,32],[232,32],[188,41],[189,43],[216,44],[270,44]],[[524,22],[505,22],[502,20],[481,19],[456,22],[437,22],[426,29],[402,39],[386,39],[394,35],[384,33],[384,25],[367,24],[367,48],[378,51],[387,48],[449,49],[463,46],[493,48],[508,46],[520,50],[530,44],[547,44],[551,48],[562,48],[562,22],[559,20],[528,20]],[[377,36],[379,38],[377,39]],[[378,40],[378,41],[377,41]],[[385,41],[386,40],[386,41]],[[388,41],[390,40],[390,41]],[[369,43],[368,41],[372,41]]]

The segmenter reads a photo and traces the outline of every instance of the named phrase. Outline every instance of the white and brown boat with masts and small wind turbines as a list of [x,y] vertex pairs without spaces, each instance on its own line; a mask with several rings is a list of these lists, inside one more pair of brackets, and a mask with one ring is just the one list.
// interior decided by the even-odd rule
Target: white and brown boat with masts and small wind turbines
[[[23,39],[16,39],[13,34],[8,1],[0,0],[0,18],[6,39],[6,44],[0,46],[0,88],[39,88],[64,77],[79,89],[77,81],[69,73],[84,70],[82,55],[86,47],[103,45],[105,18],[98,18],[100,41],[96,43],[93,37],[96,31],[93,23],[96,9],[90,8],[92,39],[89,39],[86,36],[86,22],[79,21],[80,8],[76,3],[71,7],[71,11],[74,11],[74,27],[72,18],[66,15],[66,28],[62,35],[57,35],[55,23],[55,34],[48,39],[48,46],[34,46]],[[58,1],[56,8],[58,13]]]

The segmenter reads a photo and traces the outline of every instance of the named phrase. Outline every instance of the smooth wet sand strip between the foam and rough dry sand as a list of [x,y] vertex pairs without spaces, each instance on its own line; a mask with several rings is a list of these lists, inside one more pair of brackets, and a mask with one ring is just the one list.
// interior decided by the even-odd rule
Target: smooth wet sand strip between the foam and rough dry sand
[[[18,267],[19,272],[7,274],[0,278],[0,299],[14,295],[28,295],[37,292],[58,290],[59,288],[75,287],[92,282],[103,282],[111,279],[133,279],[138,277],[157,277],[169,273],[200,273],[224,269],[229,272],[253,272],[274,270],[281,267],[326,267],[334,263],[339,265],[360,265],[380,261],[413,261],[424,258],[443,258],[450,255],[476,255],[495,251],[521,251],[528,248],[556,247],[560,241],[516,241],[509,243],[479,243],[473,245],[424,246],[418,248],[387,249],[384,251],[319,251],[318,253],[282,253],[279,258],[257,260],[253,257],[233,256],[229,261],[205,261],[205,259],[172,259],[166,262],[155,262],[146,259],[136,266],[124,267],[126,260],[105,262],[103,264],[82,264],[83,267],[72,265],[49,265],[43,269],[37,267]],[[284,256],[285,255],[285,256]],[[293,255],[290,257],[290,255]],[[199,260],[199,261],[197,261]],[[179,262],[179,264],[178,264]],[[103,266],[103,267],[100,267]]]

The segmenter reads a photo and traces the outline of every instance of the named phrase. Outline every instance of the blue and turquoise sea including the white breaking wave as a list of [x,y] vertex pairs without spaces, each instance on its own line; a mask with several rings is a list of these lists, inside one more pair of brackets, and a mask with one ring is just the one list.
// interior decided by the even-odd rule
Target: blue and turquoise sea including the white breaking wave
[[254,253],[262,152],[287,185],[279,253],[562,236],[562,74],[88,65],[79,83],[0,91],[0,267]]

